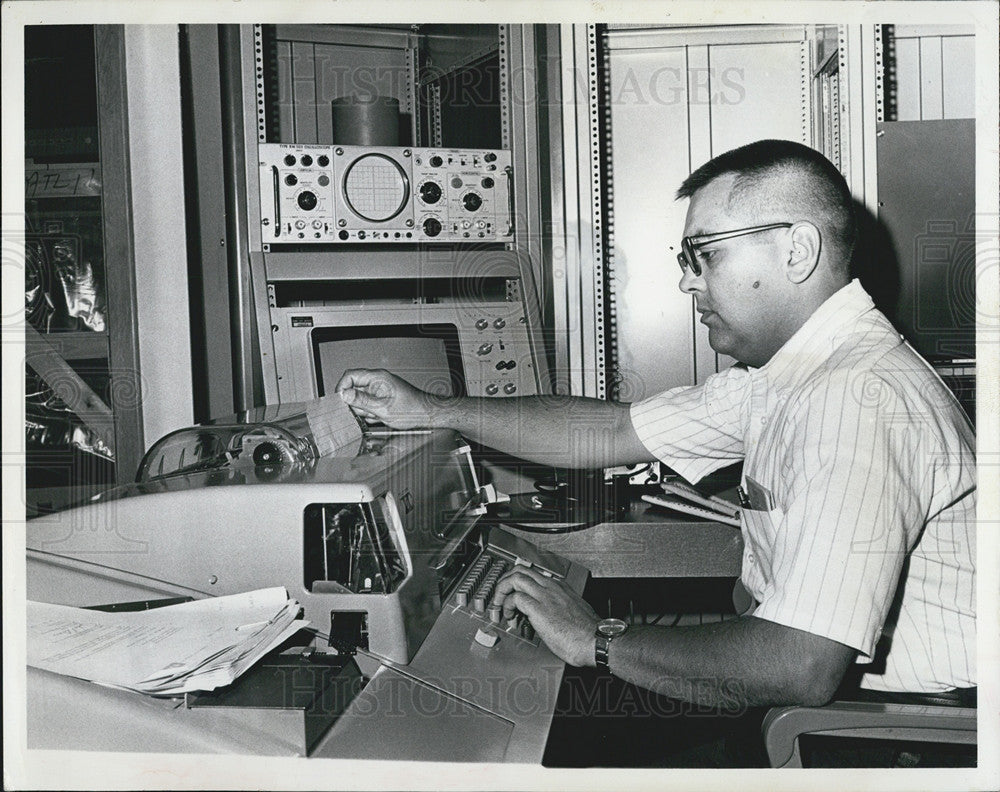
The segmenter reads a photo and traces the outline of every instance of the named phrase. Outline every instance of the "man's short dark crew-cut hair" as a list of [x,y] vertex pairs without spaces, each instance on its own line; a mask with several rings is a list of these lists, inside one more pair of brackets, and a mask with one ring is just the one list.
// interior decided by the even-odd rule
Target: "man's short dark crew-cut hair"
[[[835,248],[834,264],[848,266],[857,235],[854,200],[847,181],[830,160],[815,149],[791,140],[758,140],[706,162],[684,180],[677,198],[691,198],[709,182],[727,174],[736,176],[729,194],[731,205],[739,199],[756,203],[762,209],[797,210],[798,217],[780,220],[817,222]],[[791,194],[758,194],[755,188],[771,177],[784,175],[801,177],[796,180],[799,189]],[[803,216],[802,211],[815,216]]]

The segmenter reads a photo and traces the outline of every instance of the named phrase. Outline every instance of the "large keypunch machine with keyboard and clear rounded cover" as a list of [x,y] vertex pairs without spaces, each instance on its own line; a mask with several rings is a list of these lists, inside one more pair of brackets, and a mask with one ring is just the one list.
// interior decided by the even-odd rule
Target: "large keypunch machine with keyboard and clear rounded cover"
[[516,564],[577,591],[587,571],[481,525],[490,488],[453,432],[320,453],[314,424],[283,405],[175,432],[135,484],[28,522],[28,599],[281,585],[315,631],[184,700],[29,668],[29,747],[540,763],[564,664],[490,596]]

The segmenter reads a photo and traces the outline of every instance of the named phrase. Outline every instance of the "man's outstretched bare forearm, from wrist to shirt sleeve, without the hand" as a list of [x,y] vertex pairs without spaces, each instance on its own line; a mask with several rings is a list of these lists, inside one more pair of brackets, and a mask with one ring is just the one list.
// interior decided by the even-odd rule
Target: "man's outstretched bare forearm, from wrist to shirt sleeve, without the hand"
[[611,467],[645,461],[628,405],[570,396],[434,399],[431,426],[544,465]]

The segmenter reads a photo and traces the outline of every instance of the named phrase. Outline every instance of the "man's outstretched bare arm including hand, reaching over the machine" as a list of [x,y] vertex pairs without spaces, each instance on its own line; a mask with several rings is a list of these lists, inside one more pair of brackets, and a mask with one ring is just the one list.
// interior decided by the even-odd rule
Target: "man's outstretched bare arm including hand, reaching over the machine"
[[337,392],[355,412],[395,429],[454,429],[543,465],[600,468],[653,461],[636,436],[627,404],[571,396],[440,397],[370,369],[345,372]]

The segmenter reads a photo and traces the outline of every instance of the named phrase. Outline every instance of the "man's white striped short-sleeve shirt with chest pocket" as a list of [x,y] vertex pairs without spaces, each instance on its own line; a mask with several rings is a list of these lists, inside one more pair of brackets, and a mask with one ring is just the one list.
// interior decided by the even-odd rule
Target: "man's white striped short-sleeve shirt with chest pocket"
[[974,432],[857,281],[764,366],[631,416],[690,481],[744,461],[741,580],[755,618],[858,650],[865,687],[976,684]]

